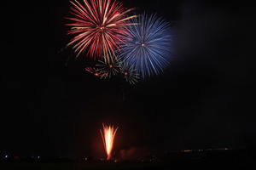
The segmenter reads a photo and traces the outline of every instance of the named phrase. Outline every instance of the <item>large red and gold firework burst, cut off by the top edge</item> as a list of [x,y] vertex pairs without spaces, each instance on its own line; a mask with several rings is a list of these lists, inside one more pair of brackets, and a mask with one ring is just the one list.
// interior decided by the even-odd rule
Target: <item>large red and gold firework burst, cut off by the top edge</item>
[[128,16],[131,9],[125,9],[122,3],[111,0],[84,0],[79,3],[77,0],[71,1],[72,20],[71,30],[68,35],[75,35],[67,46],[75,48],[77,57],[87,50],[90,57],[96,59],[106,56],[105,61],[111,59],[113,52],[119,48],[119,43],[123,42],[126,35],[125,27],[135,15]]

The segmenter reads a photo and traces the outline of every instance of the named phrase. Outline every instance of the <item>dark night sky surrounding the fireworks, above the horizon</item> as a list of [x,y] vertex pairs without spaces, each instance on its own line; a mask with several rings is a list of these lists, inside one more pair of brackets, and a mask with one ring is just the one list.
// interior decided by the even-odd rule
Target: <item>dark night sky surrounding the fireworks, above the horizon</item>
[[122,2],[172,23],[171,65],[133,86],[96,80],[61,51],[68,1],[1,2],[0,154],[102,156],[102,122],[119,126],[117,151],[255,145],[253,4]]

